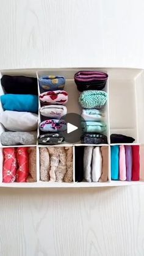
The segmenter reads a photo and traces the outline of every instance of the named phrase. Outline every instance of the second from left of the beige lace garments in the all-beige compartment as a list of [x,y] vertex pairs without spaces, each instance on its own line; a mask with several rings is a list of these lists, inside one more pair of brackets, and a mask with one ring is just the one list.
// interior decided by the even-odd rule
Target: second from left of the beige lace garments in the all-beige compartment
[[59,165],[59,154],[57,153],[57,147],[48,147],[48,152],[50,156],[50,170],[49,177],[50,181],[56,181],[56,173]]

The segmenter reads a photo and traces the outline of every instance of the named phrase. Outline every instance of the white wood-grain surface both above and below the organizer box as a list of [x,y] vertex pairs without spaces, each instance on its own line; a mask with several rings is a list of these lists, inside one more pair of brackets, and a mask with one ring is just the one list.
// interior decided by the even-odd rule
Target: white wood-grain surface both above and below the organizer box
[[[0,0],[0,69],[144,68],[143,0]],[[0,189],[1,256],[143,256],[144,187]]]

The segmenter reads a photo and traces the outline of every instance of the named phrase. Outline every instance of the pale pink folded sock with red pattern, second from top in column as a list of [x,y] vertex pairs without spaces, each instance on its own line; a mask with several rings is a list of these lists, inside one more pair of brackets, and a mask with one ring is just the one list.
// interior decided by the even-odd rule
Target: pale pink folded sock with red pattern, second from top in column
[[39,96],[41,103],[64,105],[68,101],[68,93],[65,90],[43,92]]

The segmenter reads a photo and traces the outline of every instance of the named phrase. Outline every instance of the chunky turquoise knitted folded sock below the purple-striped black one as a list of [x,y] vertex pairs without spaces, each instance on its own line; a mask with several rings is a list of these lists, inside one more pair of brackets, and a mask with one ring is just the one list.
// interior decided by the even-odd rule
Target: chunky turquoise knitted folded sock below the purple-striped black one
[[107,101],[107,92],[103,90],[85,90],[79,97],[82,108],[101,109]]

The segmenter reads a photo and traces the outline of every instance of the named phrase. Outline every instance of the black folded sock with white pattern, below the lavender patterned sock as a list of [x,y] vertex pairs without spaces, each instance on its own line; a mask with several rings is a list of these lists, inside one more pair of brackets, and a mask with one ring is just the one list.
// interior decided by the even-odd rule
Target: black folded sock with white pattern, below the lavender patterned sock
[[57,145],[65,141],[65,138],[59,133],[46,133],[38,136],[38,143],[45,145]]

